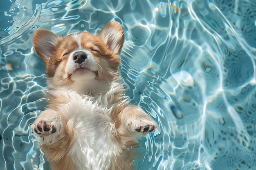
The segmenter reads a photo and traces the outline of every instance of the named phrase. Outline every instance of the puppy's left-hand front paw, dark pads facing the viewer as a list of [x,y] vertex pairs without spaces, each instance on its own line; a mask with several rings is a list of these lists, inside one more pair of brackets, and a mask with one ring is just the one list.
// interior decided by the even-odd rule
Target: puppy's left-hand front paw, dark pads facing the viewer
[[63,134],[65,121],[61,113],[47,109],[39,115],[31,128],[41,143],[54,143]]

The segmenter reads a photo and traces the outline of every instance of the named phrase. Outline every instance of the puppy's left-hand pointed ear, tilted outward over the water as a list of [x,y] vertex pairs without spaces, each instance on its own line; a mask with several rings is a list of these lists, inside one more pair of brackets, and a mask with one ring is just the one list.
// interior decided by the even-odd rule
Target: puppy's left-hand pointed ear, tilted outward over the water
[[58,37],[51,31],[40,29],[36,31],[33,37],[33,45],[37,55],[43,60],[45,64],[56,51],[56,45],[62,38]]

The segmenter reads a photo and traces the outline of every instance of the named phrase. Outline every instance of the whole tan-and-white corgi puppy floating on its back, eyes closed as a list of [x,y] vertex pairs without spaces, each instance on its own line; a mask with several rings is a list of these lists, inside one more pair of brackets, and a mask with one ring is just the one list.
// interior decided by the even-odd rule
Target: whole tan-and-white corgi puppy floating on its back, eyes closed
[[32,130],[52,170],[134,168],[137,139],[157,124],[124,95],[118,73],[123,44],[124,31],[114,21],[97,36],[36,31],[33,45],[46,65],[49,104]]

